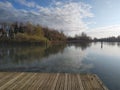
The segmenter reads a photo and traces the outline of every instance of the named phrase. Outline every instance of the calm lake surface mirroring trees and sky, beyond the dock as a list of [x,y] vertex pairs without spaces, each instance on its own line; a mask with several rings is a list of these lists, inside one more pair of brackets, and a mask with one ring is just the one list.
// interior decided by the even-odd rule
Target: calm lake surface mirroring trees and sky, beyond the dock
[[0,71],[95,73],[120,90],[120,43],[0,46]]

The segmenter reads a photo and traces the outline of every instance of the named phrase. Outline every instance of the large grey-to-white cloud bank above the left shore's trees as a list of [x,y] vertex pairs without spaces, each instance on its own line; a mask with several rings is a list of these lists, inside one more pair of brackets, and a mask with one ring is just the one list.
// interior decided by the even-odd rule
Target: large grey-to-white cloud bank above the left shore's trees
[[54,1],[46,7],[27,0],[18,0],[17,3],[31,9],[16,9],[9,1],[0,2],[0,22],[30,21],[49,28],[62,30],[67,35],[74,35],[88,28],[88,22],[84,21],[85,18],[93,17],[91,13],[92,7],[82,2]]

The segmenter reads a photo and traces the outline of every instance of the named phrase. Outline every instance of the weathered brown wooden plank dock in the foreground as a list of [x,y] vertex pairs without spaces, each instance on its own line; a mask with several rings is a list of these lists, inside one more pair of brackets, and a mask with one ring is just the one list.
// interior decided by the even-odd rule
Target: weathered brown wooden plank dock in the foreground
[[0,90],[108,90],[95,74],[0,72]]

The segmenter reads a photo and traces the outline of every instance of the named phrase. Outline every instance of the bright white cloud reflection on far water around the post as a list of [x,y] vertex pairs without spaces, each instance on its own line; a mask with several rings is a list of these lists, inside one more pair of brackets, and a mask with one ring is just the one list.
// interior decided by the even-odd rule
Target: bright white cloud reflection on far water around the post
[[[107,57],[120,57],[119,47],[117,43],[109,42],[103,43],[103,49],[101,49],[101,43],[92,44],[92,46],[87,50],[89,53],[88,58],[91,60],[93,56],[107,56]],[[96,60],[96,58],[93,58]]]

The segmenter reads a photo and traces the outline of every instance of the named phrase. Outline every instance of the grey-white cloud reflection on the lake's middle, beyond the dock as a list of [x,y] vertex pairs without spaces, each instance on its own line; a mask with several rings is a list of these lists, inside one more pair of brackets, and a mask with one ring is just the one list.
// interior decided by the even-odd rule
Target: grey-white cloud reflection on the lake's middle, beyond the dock
[[93,68],[93,65],[85,63],[83,61],[85,57],[86,55],[81,49],[76,49],[73,46],[67,47],[63,53],[44,58],[40,67],[51,72],[88,72]]

